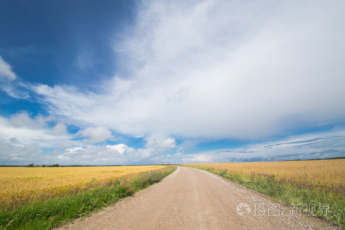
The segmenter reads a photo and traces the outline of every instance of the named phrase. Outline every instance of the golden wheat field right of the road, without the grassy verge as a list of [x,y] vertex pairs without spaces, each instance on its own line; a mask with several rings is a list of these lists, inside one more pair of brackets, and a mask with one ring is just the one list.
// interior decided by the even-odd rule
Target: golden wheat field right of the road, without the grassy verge
[[227,169],[245,175],[275,175],[276,180],[297,185],[318,184],[333,188],[345,188],[345,159],[186,165]]

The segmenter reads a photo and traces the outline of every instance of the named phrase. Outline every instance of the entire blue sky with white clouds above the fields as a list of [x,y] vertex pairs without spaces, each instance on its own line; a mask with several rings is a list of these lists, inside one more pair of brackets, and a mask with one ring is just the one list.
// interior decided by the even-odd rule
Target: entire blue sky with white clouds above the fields
[[0,0],[0,164],[345,156],[343,0]]

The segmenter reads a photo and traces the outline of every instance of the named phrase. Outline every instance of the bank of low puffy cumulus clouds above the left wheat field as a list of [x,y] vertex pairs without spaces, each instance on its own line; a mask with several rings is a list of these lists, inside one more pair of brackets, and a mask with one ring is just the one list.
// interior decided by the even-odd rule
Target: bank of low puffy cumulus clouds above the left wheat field
[[[47,125],[52,122],[56,125]],[[76,136],[87,139],[76,140]],[[100,143],[111,137],[111,132],[104,126],[69,134],[66,125],[56,118],[32,118],[21,111],[10,118],[0,116],[0,162],[17,165],[31,164],[32,161],[61,165],[161,164],[162,156],[176,145],[173,138],[152,139],[152,144],[138,149],[124,143]]]

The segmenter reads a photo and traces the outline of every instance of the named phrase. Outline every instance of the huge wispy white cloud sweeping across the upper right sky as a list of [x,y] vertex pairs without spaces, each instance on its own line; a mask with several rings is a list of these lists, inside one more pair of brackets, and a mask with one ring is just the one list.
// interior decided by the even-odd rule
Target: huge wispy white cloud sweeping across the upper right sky
[[261,139],[341,122],[344,7],[344,1],[145,2],[115,47],[127,56],[130,76],[102,82],[99,94],[32,89],[52,114],[133,136]]

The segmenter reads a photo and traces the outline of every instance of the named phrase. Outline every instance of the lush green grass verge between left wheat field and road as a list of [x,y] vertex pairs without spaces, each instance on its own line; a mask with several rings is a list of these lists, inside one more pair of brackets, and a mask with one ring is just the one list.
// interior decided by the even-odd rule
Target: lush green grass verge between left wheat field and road
[[176,166],[141,173],[131,181],[116,181],[111,187],[90,189],[73,196],[32,202],[0,210],[0,229],[51,229],[90,214],[161,181]]

